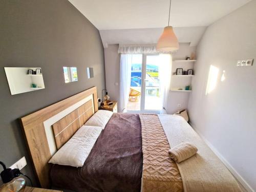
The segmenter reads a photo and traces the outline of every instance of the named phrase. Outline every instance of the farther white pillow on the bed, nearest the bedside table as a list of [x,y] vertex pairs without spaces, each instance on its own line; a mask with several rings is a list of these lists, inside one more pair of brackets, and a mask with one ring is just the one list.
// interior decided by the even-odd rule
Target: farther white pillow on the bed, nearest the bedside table
[[106,123],[109,122],[112,115],[112,111],[99,110],[84,125],[101,126],[102,129],[104,129]]

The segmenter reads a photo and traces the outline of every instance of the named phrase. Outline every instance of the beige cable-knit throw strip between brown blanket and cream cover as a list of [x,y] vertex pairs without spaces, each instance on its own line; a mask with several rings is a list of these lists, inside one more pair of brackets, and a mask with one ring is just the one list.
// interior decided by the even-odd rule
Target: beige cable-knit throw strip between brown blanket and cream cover
[[142,191],[183,191],[182,179],[157,115],[140,114],[143,152]]

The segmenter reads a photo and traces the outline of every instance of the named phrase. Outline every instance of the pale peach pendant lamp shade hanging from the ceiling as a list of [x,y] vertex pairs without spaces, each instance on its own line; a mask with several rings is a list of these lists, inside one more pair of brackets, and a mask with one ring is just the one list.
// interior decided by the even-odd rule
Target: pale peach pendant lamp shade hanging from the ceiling
[[178,39],[173,31],[172,26],[164,28],[162,35],[157,42],[157,51],[172,52],[179,49]]

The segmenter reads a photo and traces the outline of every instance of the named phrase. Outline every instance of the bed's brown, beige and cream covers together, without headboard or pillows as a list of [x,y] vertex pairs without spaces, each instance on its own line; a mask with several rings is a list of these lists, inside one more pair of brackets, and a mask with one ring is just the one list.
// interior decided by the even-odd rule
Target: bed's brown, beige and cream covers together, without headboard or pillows
[[[52,166],[52,185],[74,191],[241,191],[194,132],[179,116],[115,113],[82,167]],[[177,166],[167,152],[184,141],[199,151]]]

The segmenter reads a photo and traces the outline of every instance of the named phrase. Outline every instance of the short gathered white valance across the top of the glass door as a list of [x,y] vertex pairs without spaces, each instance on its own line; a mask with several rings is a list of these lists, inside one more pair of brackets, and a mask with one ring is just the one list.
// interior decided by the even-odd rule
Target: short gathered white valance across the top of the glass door
[[124,54],[142,54],[142,53],[157,53],[155,44],[144,45],[119,45],[118,53]]

